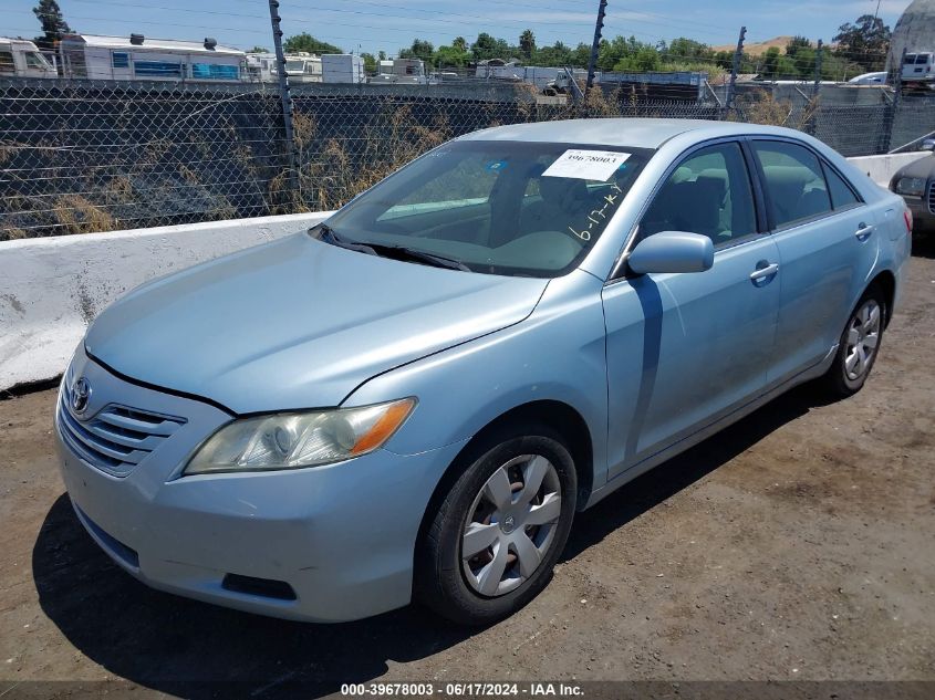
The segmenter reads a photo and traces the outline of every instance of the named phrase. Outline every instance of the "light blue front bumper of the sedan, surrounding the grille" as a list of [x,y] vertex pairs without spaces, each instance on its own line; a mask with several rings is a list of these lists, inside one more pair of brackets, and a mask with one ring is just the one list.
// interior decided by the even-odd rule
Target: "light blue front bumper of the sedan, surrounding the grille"
[[[191,452],[231,417],[124,382],[81,351],[64,382],[79,376],[94,387],[83,415],[116,404],[186,421],[128,473],[114,476],[80,455],[67,431],[63,438],[56,415],[62,477],[79,519],[133,576],[209,603],[313,621],[357,619],[409,602],[423,514],[463,443],[412,456],[378,450],[310,469],[178,478]],[[69,409],[60,403],[59,410]],[[294,599],[231,589],[229,582],[242,577],[284,584]]]

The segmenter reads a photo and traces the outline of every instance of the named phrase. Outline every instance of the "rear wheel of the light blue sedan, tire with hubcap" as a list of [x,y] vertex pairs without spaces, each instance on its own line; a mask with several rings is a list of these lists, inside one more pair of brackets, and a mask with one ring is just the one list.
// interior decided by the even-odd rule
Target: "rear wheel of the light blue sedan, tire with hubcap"
[[827,393],[846,398],[861,390],[880,354],[885,325],[886,296],[874,284],[863,293],[844,325],[834,362],[821,378]]

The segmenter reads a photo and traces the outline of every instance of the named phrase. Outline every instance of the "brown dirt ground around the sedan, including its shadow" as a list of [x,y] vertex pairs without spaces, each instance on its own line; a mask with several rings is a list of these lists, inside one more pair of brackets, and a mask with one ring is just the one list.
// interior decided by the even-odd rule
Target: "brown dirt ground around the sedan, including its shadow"
[[863,391],[825,405],[797,389],[625,487],[579,516],[546,592],[484,630],[414,608],[303,625],[150,591],[71,511],[54,393],[0,401],[0,696],[71,693],[21,683],[35,680],[131,697],[226,697],[218,680],[248,697],[422,679],[935,681],[933,302],[923,250]]

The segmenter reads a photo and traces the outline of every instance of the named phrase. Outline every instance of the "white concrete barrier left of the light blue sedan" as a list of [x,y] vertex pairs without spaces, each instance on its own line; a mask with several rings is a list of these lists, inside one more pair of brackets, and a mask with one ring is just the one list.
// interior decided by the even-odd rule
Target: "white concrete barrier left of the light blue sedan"
[[87,324],[156,276],[303,231],[326,213],[0,242],[0,391],[60,375]]

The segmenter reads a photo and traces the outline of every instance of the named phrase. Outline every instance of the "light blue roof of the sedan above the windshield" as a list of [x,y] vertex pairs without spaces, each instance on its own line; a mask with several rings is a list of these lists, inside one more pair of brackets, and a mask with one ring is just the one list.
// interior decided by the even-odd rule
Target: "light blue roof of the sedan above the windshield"
[[793,136],[800,139],[802,137],[801,132],[758,124],[708,119],[617,117],[511,124],[466,134],[459,140],[550,142],[627,148],[658,148],[667,140],[689,132],[697,136],[697,140],[747,134],[772,134]]

